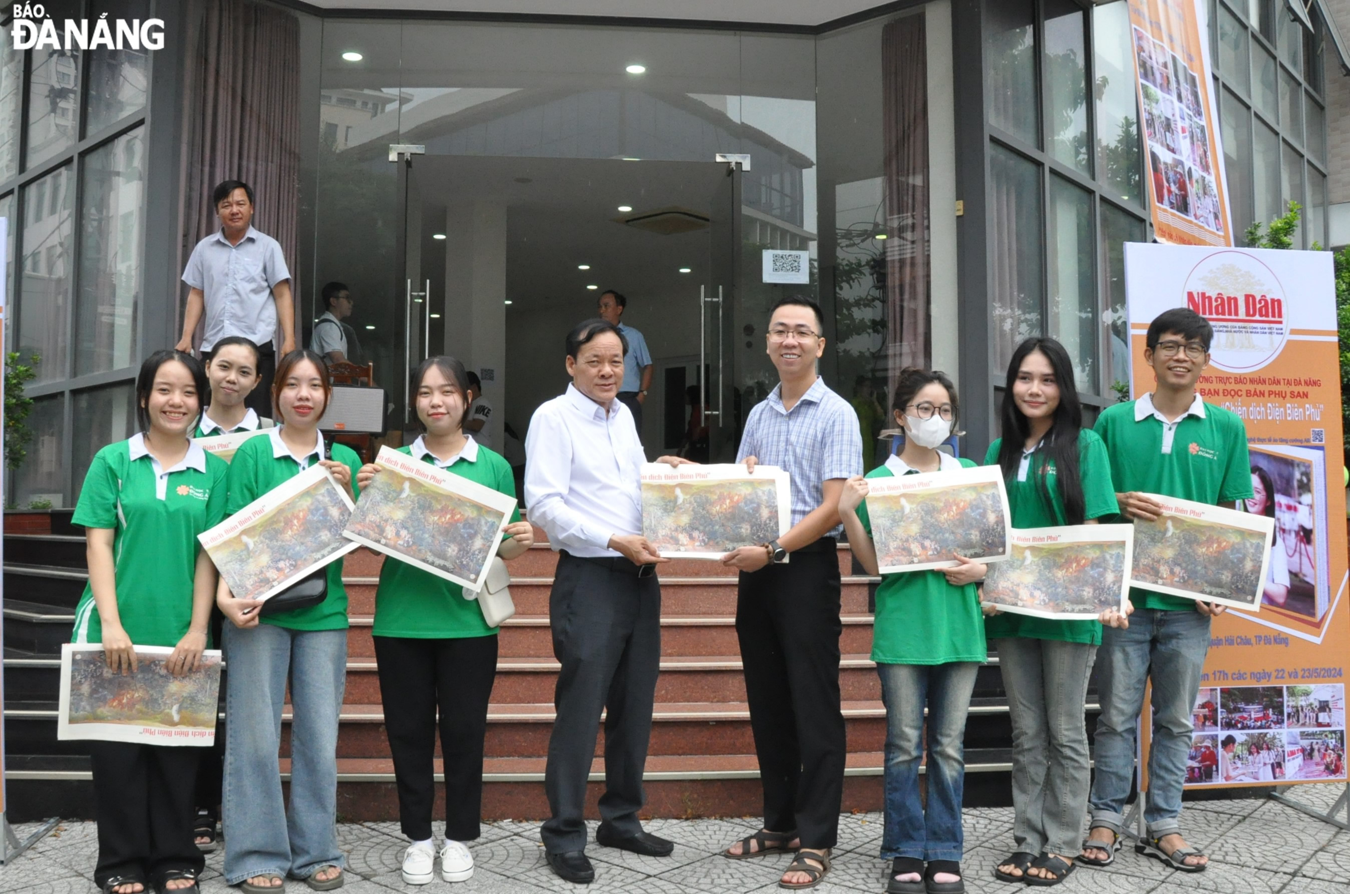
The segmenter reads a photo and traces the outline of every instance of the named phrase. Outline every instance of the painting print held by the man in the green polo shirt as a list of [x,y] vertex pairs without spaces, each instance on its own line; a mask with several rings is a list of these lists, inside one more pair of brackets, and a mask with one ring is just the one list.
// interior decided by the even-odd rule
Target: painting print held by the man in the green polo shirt
[[1260,610],[1274,519],[1149,494],[1162,506],[1134,520],[1130,583],[1203,602]]

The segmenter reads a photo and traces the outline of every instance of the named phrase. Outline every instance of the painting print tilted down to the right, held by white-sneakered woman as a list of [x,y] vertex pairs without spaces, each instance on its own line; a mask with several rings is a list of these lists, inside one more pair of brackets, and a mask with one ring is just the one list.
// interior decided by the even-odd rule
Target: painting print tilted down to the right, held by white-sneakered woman
[[516,498],[389,447],[375,465],[343,536],[479,590]]

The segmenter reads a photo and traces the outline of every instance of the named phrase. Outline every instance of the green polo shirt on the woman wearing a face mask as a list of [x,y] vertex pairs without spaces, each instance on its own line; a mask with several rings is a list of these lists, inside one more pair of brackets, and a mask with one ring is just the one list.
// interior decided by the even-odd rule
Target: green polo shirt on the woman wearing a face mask
[[[892,456],[891,461],[898,461]],[[891,462],[888,461],[888,462]],[[961,466],[973,467],[969,459]],[[903,463],[896,462],[896,467]],[[915,474],[909,470],[905,474]],[[867,474],[891,478],[888,466]],[[872,535],[867,500],[857,517]],[[948,664],[986,662],[984,620],[973,583],[952,586],[941,571],[883,574],[876,587],[876,616],[872,620],[872,660],[878,664]]]

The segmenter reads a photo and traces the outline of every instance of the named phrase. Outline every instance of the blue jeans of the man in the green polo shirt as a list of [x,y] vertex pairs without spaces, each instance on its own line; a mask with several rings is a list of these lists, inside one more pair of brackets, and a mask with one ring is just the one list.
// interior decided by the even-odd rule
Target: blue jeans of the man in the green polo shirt
[[1102,716],[1096,728],[1096,775],[1092,781],[1092,825],[1120,832],[1125,802],[1133,790],[1135,721],[1143,710],[1143,687],[1153,679],[1153,739],[1149,747],[1149,793],[1143,820],[1152,837],[1181,825],[1181,786],[1191,752],[1191,709],[1200,690],[1200,671],[1210,650],[1210,619],[1196,610],[1135,609],[1130,627],[1107,627],[1098,650]]

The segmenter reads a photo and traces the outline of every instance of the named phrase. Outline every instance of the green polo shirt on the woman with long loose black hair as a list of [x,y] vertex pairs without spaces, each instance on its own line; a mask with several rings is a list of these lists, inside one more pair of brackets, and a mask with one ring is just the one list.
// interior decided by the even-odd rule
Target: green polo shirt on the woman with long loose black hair
[[[999,465],[999,448],[1003,439],[990,444],[984,454],[986,466]],[[1045,470],[1045,486],[1049,501],[1041,493],[1041,471]],[[1079,432],[1079,481],[1083,482],[1083,517],[1100,519],[1120,512],[1115,504],[1115,488],[1111,485],[1111,465],[1106,455],[1106,444],[1088,428]],[[1054,462],[1046,461],[1037,450],[1027,463],[1026,479],[1017,474],[1006,479],[1008,510],[1013,513],[1014,528],[1052,528],[1068,524],[1064,517],[1064,501],[1054,478]],[[1037,640],[1061,640],[1065,643],[1102,643],[1099,621],[1056,621],[1046,617],[1033,617],[1015,612],[1002,612],[984,619],[984,635],[990,639],[1002,636],[1025,636]]]

